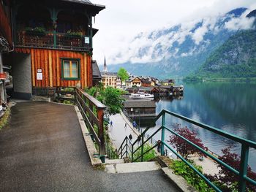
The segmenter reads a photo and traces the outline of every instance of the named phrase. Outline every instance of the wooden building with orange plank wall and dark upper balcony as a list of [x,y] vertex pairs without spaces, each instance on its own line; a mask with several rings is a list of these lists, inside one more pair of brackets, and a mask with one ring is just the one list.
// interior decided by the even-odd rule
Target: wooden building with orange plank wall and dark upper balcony
[[29,99],[33,88],[93,85],[94,17],[105,9],[89,0],[19,0],[12,4],[13,91]]

